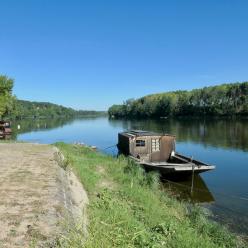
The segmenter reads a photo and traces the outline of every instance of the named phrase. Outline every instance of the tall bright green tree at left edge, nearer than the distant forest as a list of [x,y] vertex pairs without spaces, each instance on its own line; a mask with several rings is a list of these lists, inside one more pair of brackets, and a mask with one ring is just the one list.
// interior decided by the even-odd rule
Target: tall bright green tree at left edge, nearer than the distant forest
[[0,75],[0,119],[8,115],[13,106],[12,96],[14,81],[11,78]]

